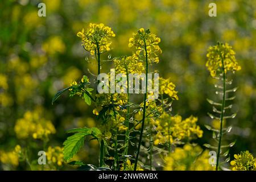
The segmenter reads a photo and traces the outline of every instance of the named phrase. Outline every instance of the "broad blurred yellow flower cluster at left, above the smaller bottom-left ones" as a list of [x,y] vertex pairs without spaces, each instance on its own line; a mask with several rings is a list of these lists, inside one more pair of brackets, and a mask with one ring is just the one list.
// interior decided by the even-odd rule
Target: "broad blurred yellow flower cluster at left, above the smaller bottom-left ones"
[[24,117],[16,122],[14,131],[20,139],[28,137],[47,139],[49,134],[56,133],[52,122],[43,118],[43,110],[40,108],[34,111],[27,111]]

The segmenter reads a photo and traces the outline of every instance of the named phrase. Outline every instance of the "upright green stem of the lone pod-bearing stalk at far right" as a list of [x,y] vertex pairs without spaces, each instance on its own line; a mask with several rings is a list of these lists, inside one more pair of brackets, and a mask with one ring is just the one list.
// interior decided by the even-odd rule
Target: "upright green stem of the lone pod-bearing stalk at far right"
[[221,63],[222,63],[222,72],[223,72],[223,98],[222,98],[222,106],[221,106],[220,138],[218,140],[216,171],[218,171],[218,160],[220,158],[220,151],[221,151],[222,123],[223,123],[223,117],[224,117],[224,107],[225,107],[225,97],[226,97],[226,73],[225,73],[224,61],[222,59],[222,56],[221,56]]

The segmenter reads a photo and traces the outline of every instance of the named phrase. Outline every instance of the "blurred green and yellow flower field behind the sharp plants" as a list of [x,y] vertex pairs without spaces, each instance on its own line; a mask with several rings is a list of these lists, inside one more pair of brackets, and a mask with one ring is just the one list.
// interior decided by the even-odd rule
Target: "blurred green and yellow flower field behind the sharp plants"
[[[46,3],[46,17],[38,16],[38,3]],[[208,15],[209,3],[217,5],[217,17]],[[227,42],[237,53],[242,70],[233,76],[238,86],[233,113],[229,119],[232,132],[225,141],[233,142],[230,154],[249,150],[256,155],[256,7],[254,0],[3,0],[0,2],[0,151],[26,146],[14,131],[19,118],[27,111],[43,113],[53,123],[56,133],[49,146],[62,146],[65,131],[72,127],[93,127],[97,123],[89,107],[79,97],[64,94],[54,105],[52,97],[79,80],[82,75],[97,73],[97,67],[85,61],[89,56],[76,36],[89,23],[112,27],[112,57],[130,55],[128,40],[138,28],[150,28],[161,38],[160,62],[151,71],[171,78],[178,90],[179,101],[172,113],[184,118],[195,115],[204,130],[196,140],[202,147],[211,141],[204,127],[214,125],[207,116],[212,108],[207,98],[216,100],[213,79],[205,67],[207,48],[217,41]],[[105,58],[108,55],[105,55]],[[109,72],[106,63],[102,72]],[[88,71],[89,69],[89,71]],[[40,148],[42,141],[34,142]],[[36,148],[36,147],[35,147]],[[2,155],[0,153],[0,155]],[[31,154],[36,158],[37,153]],[[88,164],[98,163],[98,144],[88,141],[77,155]],[[64,169],[67,169],[65,167]],[[28,169],[15,163],[0,169]]]

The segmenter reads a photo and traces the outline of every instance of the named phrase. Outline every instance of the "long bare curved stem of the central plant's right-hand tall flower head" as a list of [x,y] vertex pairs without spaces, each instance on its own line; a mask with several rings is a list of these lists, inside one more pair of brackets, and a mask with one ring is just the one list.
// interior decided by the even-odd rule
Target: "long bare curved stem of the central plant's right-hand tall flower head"
[[146,116],[146,100],[147,100],[147,73],[148,73],[148,60],[147,60],[147,46],[146,41],[144,40],[144,49],[146,54],[146,92],[144,93],[144,103],[143,103],[143,117],[142,117],[142,124],[141,124],[141,134],[139,135],[139,144],[138,144],[138,150],[137,155],[134,163],[134,171],[137,169],[138,159],[139,159],[139,150],[141,150],[141,142],[142,142],[142,135],[143,135],[143,129],[144,129],[144,123],[145,123],[145,116]]

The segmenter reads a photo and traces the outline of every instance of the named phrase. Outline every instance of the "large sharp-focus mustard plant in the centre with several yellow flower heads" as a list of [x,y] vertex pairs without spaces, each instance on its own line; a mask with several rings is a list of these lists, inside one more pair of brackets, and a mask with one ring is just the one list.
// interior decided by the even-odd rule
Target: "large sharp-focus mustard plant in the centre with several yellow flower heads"
[[[109,55],[108,60],[101,60],[101,54],[112,49],[110,38],[115,34],[111,28],[104,24],[90,24],[88,29],[82,29],[77,36],[81,38],[85,51],[96,59],[98,75],[101,73],[103,61],[113,61],[115,69],[114,73],[112,70],[107,74],[104,73],[108,77],[106,80],[97,81],[96,92],[90,88],[89,78],[83,76],[79,82],[72,81],[68,88],[60,90],[53,97],[52,103],[61,94],[68,91],[70,97],[79,96],[86,104],[93,103],[93,114],[96,115],[98,121],[97,127],[82,127],[67,131],[71,136],[63,143],[63,158],[66,162],[71,160],[84,145],[85,137],[90,136],[90,139],[96,139],[100,145],[98,167],[81,161],[72,161],[69,164],[79,165],[79,169],[86,170],[133,169],[136,171],[146,168],[152,170],[155,169],[154,155],[162,158],[162,154],[173,152],[172,146],[183,145],[195,137],[202,137],[203,131],[196,124],[196,117],[182,119],[180,115],[171,114],[172,102],[179,100],[179,97],[175,90],[176,86],[170,78],[160,77],[159,80],[152,80],[151,77],[148,77],[148,73],[151,73],[149,66],[159,63],[158,56],[162,53],[158,45],[160,38],[152,34],[150,30],[140,28],[129,39],[128,46],[133,49],[131,56],[111,59]],[[142,75],[143,73],[145,73],[145,77],[139,79],[145,81],[145,88],[142,85],[142,90],[137,90],[137,93],[144,94],[143,102],[137,104],[131,102],[130,99],[134,90],[133,82],[130,82],[130,74]],[[122,80],[123,77],[113,80],[112,74],[121,74],[125,80]],[[111,91],[111,87],[115,88],[120,81],[125,82],[120,88],[121,93],[98,92],[100,86],[104,90],[108,90],[110,86]],[[149,88],[148,83],[154,83],[154,86],[159,87],[156,89],[159,94],[155,100],[152,99],[154,98],[152,95],[155,93],[150,91],[152,86]],[[143,89],[144,92],[142,92]],[[139,137],[137,138],[138,133]],[[137,141],[137,151],[133,157],[133,155],[129,155],[129,146],[135,146]],[[150,159],[150,162],[138,165],[139,157],[143,159],[144,154]]]

